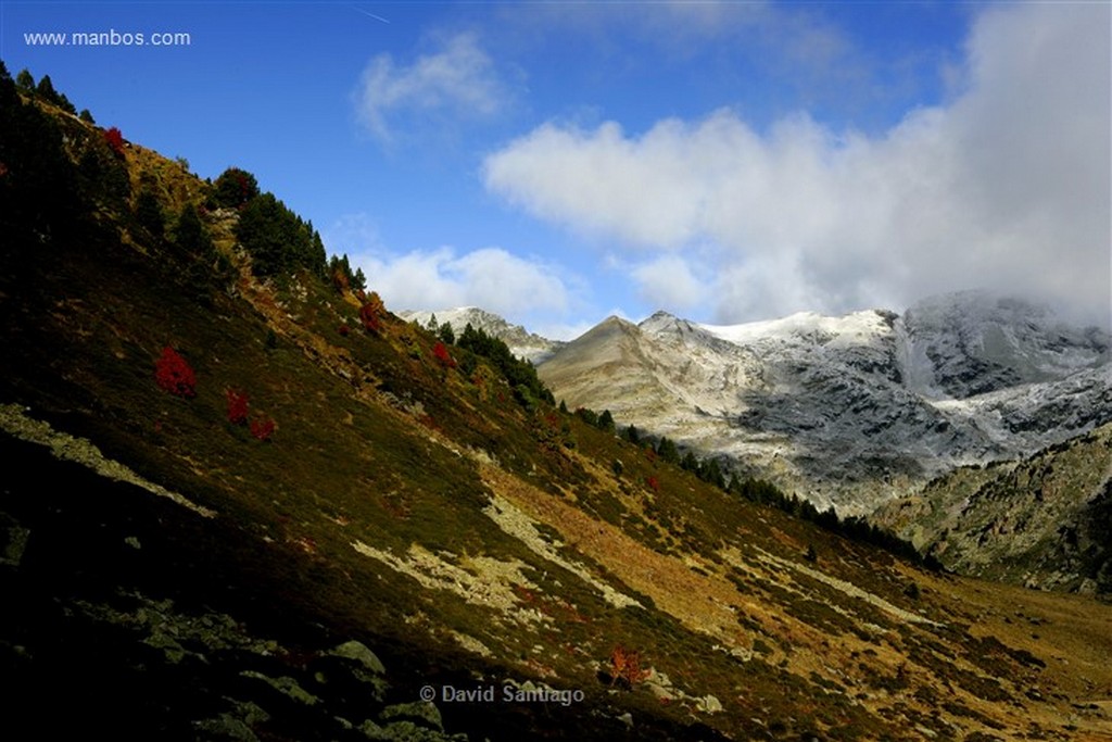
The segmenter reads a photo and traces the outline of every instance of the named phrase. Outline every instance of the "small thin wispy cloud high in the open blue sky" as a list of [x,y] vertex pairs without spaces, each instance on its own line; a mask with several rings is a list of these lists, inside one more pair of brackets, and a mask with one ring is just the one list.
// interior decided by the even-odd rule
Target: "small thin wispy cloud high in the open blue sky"
[[490,57],[471,33],[447,39],[443,50],[398,65],[378,55],[356,91],[360,120],[383,142],[395,137],[391,118],[418,113],[445,119],[489,118],[503,110],[507,90]]

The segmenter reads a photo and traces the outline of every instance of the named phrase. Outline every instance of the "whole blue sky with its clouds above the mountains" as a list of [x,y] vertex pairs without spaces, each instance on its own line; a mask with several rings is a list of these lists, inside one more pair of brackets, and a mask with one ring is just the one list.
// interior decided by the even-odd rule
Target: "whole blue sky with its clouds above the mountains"
[[[1110,313],[1110,6],[3,2],[0,57],[252,171],[394,309],[574,336],[979,286]],[[188,46],[27,33],[186,32]]]

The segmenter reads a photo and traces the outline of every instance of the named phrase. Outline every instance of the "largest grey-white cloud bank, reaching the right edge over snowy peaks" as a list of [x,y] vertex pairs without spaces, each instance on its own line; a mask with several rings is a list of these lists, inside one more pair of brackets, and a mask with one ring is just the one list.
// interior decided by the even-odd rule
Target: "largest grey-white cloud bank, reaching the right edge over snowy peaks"
[[[727,109],[641,135],[547,123],[490,155],[485,182],[619,239],[607,249],[639,255],[634,278],[654,298],[689,301],[694,276],[715,275],[719,321],[902,308],[982,285],[1106,321],[1109,16],[1103,3],[990,7],[962,92],[877,136],[804,113],[758,133]],[[659,284],[652,266],[692,246],[687,273]]]

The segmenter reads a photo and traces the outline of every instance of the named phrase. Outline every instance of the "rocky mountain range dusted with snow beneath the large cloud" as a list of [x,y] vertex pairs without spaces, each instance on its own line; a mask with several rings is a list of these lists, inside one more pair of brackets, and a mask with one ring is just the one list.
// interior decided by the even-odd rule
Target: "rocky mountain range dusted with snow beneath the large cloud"
[[1108,333],[1043,307],[967,291],[903,316],[612,317],[538,372],[569,405],[608,408],[846,514],[1112,419],[1109,347]]

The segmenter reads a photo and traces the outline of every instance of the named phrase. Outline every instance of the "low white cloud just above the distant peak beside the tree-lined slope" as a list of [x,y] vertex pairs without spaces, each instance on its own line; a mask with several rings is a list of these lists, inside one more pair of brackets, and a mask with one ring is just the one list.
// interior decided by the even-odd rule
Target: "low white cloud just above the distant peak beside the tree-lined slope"
[[506,317],[563,313],[572,291],[547,265],[497,247],[457,255],[451,247],[401,255],[350,254],[390,309],[479,306]]

